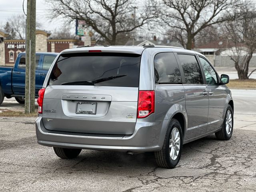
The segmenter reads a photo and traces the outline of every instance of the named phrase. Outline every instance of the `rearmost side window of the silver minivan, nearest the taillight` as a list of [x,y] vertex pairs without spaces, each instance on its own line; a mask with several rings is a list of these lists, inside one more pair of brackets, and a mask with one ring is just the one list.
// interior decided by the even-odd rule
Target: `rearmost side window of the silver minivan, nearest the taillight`
[[158,84],[181,84],[180,69],[174,53],[158,53],[154,58],[155,82]]

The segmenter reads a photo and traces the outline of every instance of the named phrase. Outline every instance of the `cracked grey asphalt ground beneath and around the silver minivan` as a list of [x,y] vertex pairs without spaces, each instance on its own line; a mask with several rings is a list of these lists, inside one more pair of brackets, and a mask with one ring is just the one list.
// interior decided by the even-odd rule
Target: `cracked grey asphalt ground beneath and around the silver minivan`
[[[174,169],[157,168],[153,153],[82,150],[62,160],[36,143],[34,118],[0,115],[0,191],[256,191],[256,90],[232,90],[234,132],[184,145]],[[20,104],[6,100],[1,108]]]

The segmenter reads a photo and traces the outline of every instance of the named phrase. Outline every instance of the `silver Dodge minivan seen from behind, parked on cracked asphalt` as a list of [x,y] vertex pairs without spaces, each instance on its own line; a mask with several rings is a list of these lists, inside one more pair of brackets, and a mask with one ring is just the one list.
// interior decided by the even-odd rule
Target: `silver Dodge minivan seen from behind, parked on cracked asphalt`
[[82,149],[154,152],[174,168],[182,145],[228,140],[234,103],[202,54],[176,47],[95,46],[62,51],[38,97],[38,143],[60,158]]

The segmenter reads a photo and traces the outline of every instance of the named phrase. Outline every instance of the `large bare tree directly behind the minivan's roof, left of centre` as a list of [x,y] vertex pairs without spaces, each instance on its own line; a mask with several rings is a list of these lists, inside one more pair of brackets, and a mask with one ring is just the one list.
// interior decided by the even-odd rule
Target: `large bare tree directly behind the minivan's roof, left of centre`
[[[152,20],[156,3],[140,6],[135,0],[46,0],[52,7],[52,17],[84,20],[88,28],[100,34],[110,45],[118,36],[133,31]],[[141,4],[141,3],[140,3]]]

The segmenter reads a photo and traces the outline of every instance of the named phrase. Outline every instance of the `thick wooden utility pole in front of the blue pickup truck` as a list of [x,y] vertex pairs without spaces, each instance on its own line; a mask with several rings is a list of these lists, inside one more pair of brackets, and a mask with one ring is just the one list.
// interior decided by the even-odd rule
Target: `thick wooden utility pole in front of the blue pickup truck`
[[25,113],[35,111],[36,0],[27,1]]

